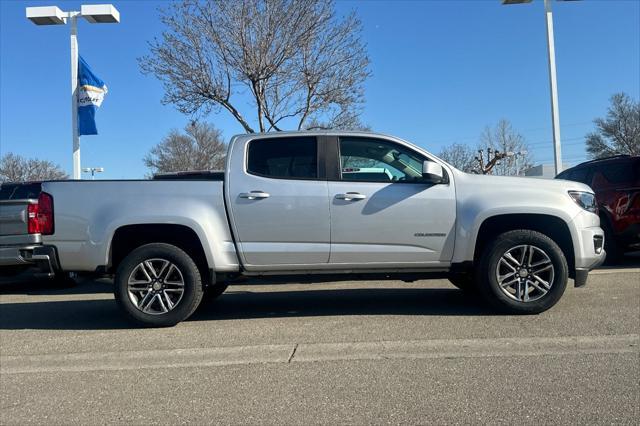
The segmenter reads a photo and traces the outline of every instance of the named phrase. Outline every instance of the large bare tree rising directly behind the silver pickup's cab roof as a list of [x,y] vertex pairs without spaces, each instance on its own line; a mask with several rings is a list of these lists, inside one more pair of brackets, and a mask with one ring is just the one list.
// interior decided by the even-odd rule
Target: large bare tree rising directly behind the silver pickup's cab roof
[[185,114],[226,110],[248,133],[252,122],[260,132],[345,128],[360,114],[369,76],[362,25],[353,13],[338,18],[331,0],[186,0],[161,20],[166,30],[140,67]]

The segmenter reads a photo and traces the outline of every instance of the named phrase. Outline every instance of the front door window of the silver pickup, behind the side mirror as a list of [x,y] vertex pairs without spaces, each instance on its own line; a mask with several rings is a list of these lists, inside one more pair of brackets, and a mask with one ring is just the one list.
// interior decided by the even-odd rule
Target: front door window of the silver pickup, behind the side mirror
[[380,139],[340,138],[343,181],[420,182],[426,158],[402,145]]

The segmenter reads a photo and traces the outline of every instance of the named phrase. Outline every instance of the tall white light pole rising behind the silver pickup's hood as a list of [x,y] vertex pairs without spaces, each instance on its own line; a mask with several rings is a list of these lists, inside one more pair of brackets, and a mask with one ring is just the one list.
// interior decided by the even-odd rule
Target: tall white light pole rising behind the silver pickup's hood
[[[556,0],[577,1],[577,0]],[[531,0],[502,0],[503,5],[531,3]],[[562,171],[562,151],[560,149],[560,112],[558,111],[558,82],[556,80],[556,47],[553,38],[553,15],[551,0],[544,0],[544,11],[547,20],[547,53],[549,61],[549,86],[551,89],[551,124],[553,126],[553,158],[555,173]]]

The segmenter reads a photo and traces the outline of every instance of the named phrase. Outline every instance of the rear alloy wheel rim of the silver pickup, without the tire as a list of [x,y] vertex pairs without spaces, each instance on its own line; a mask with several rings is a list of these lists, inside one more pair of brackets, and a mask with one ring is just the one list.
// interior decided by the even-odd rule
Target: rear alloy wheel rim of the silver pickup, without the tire
[[184,296],[184,275],[178,266],[163,258],[138,263],[127,279],[129,300],[140,312],[165,315],[173,311]]

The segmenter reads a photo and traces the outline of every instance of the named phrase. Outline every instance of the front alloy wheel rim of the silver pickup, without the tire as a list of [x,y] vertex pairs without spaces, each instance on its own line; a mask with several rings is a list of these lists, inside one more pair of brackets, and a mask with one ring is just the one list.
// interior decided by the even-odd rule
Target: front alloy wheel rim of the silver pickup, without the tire
[[512,300],[530,303],[551,291],[555,268],[549,255],[540,247],[520,244],[502,254],[495,275],[503,294]]

